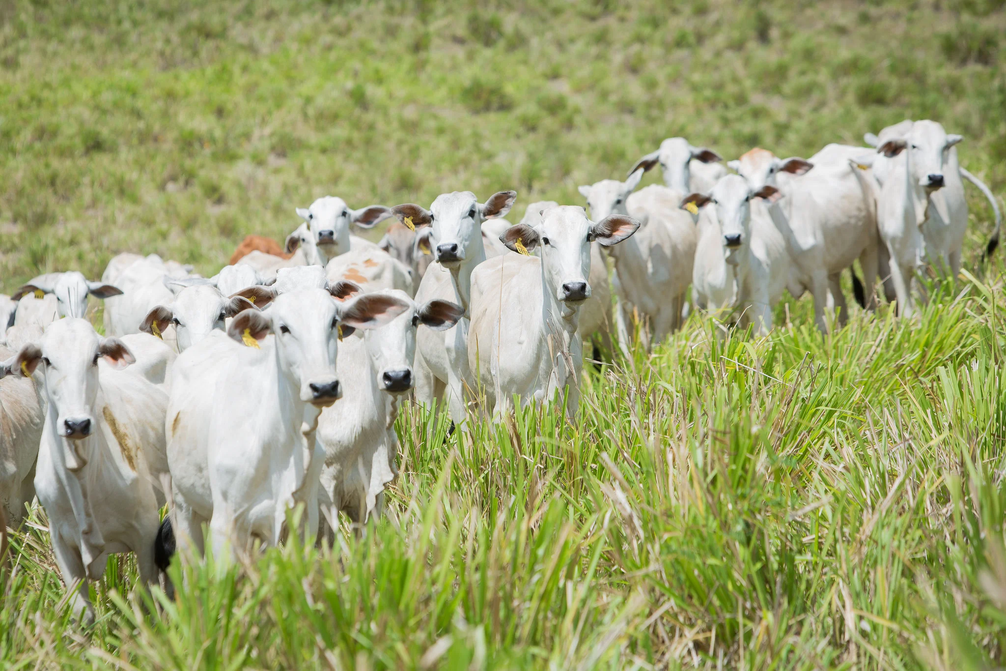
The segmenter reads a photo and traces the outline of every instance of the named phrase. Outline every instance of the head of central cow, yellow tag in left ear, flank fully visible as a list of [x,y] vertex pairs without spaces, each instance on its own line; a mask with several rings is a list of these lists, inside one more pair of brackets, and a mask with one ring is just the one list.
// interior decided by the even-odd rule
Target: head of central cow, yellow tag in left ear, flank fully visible
[[613,214],[594,223],[582,207],[560,205],[544,210],[534,226],[518,223],[507,228],[500,241],[514,251],[540,247],[544,290],[573,307],[591,297],[591,242],[611,246],[638,228],[639,222],[629,216]]

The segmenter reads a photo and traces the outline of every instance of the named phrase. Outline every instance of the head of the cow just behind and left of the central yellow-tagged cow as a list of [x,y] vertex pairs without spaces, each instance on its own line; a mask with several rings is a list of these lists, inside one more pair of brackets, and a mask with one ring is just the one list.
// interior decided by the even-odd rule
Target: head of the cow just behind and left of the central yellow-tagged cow
[[480,203],[471,191],[454,191],[437,196],[429,210],[407,203],[391,211],[406,226],[429,225],[434,261],[457,269],[466,259],[473,259],[477,245],[482,244],[482,222],[506,216],[516,198],[516,191],[499,191]]

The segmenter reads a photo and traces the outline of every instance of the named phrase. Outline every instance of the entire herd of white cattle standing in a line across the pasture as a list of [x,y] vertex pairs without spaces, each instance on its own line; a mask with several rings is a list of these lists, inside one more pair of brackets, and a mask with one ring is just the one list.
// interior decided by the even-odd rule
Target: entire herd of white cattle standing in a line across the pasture
[[[829,310],[844,323],[839,276],[857,259],[860,303],[875,307],[879,281],[909,315],[924,265],[960,268],[963,180],[992,202],[989,253],[998,241],[961,140],[903,122],[867,134],[872,147],[753,149],[723,166],[671,138],[626,181],[579,187],[590,217],[538,202],[510,225],[514,191],[358,210],[329,196],[297,209],[286,254],[253,250],[212,278],[135,254],[100,282],[37,277],[0,297],[0,529],[37,496],[91,620],[87,583],[109,554],[135,552],[150,582],[175,539],[203,551],[204,526],[217,553],[242,553],[279,543],[298,504],[299,531],[320,537],[340,512],[380,514],[405,394],[462,428],[514,398],[574,414],[584,338],[649,348],[695,310],[764,334],[784,289],[811,292],[824,330]],[[657,165],[665,185],[636,191]],[[378,243],[350,233],[392,216]],[[105,301],[105,336],[89,296]]]

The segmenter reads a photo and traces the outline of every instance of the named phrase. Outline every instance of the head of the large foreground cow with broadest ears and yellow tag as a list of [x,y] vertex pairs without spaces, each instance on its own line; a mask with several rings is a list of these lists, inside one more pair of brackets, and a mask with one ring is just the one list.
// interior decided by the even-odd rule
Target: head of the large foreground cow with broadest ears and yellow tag
[[227,335],[239,343],[258,346],[273,333],[280,367],[300,388],[300,399],[319,407],[331,405],[342,389],[335,374],[339,327],[373,329],[390,322],[408,309],[396,296],[363,294],[346,301],[347,285],[339,282],[330,290],[301,289],[280,294],[269,310],[244,310],[227,327]]

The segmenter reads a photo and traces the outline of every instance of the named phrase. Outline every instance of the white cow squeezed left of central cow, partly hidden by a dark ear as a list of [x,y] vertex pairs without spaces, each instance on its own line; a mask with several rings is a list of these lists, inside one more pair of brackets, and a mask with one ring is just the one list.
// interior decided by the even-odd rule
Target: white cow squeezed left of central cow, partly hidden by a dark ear
[[[472,272],[486,260],[482,241],[482,223],[506,216],[516,191],[499,191],[480,203],[471,191],[454,191],[437,196],[430,209],[405,204],[392,208],[403,222],[433,229],[431,248],[435,263],[427,269],[415,302],[434,299],[460,305],[468,313],[472,293]],[[475,379],[468,367],[468,319],[444,332],[420,331],[415,352],[415,397],[432,403],[447,392],[451,418],[465,417],[465,402],[475,389]],[[467,387],[467,388],[466,388]]]

